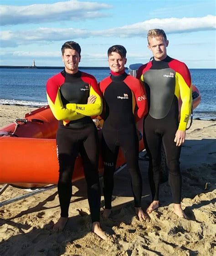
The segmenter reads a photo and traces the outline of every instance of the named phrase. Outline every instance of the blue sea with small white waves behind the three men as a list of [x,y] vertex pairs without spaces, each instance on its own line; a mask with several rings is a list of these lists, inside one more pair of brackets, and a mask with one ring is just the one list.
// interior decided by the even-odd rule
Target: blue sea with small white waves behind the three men
[[[98,81],[109,69],[80,69]],[[47,105],[46,81],[62,69],[0,69],[0,104],[41,107]],[[194,118],[216,119],[216,69],[190,69],[192,82],[201,93]]]

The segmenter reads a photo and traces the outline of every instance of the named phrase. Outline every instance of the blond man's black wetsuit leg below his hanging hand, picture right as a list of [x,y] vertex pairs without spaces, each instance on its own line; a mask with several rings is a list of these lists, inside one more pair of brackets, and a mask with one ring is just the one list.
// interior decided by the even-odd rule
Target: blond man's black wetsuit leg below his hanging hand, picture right
[[174,142],[178,123],[170,124],[163,136],[163,144],[166,153],[166,162],[169,170],[169,184],[171,187],[173,202],[181,202],[181,173],[180,173],[180,152],[181,146],[177,147]]

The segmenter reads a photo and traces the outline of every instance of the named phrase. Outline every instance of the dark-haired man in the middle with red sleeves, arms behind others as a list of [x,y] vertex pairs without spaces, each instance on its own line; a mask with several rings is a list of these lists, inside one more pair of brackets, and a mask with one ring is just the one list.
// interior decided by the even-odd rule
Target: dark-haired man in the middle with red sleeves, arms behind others
[[111,75],[99,83],[104,97],[102,152],[104,161],[103,217],[111,213],[113,174],[119,147],[125,154],[134,195],[135,213],[145,219],[141,208],[142,177],[139,170],[139,140],[135,123],[147,113],[145,90],[140,81],[125,73],[126,49],[114,45],[108,49]]

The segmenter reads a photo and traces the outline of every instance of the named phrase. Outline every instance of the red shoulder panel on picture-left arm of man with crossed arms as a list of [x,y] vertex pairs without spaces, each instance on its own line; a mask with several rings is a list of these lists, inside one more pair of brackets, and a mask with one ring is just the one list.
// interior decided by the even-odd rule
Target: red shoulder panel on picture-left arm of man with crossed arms
[[64,81],[65,81],[65,77],[62,75],[62,73],[54,75],[47,80],[46,92],[53,103],[55,103],[58,89],[59,87],[61,87]]

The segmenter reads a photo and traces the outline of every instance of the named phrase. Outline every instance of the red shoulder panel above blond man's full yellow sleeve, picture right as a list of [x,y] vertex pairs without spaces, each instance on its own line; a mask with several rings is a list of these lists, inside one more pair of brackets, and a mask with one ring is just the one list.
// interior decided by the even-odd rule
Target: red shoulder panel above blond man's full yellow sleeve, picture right
[[185,65],[185,63],[183,63],[177,59],[172,59],[169,62],[169,67],[171,69],[174,69],[180,75],[182,75],[183,79],[185,80],[185,83],[190,88],[190,85],[191,85],[190,71],[189,71],[188,67]]

